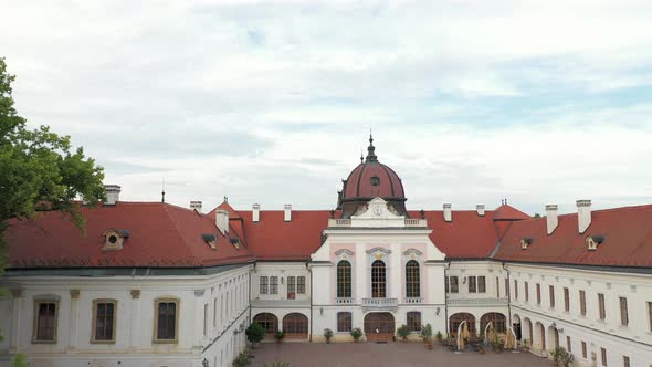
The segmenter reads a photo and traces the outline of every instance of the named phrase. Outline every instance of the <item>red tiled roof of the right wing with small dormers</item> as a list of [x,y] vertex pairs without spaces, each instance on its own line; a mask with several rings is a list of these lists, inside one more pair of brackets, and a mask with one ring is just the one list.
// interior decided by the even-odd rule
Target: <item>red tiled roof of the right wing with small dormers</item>
[[[512,224],[501,242],[496,259],[506,261],[565,264],[652,266],[652,205],[596,210],[591,224],[580,234],[577,213],[559,216],[559,224],[547,235],[546,218]],[[595,251],[588,250],[588,235],[603,235]],[[520,249],[520,239],[533,239]]]

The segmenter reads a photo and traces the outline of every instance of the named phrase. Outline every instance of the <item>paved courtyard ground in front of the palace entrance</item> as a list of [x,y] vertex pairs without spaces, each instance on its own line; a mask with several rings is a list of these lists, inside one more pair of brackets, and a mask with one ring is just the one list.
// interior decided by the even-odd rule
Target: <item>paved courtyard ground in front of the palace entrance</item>
[[396,367],[396,366],[469,366],[469,367],[550,367],[548,359],[529,353],[484,355],[477,353],[455,354],[434,346],[428,350],[421,343],[284,343],[261,344],[252,350],[252,366],[271,366],[274,361],[290,363],[291,367]]

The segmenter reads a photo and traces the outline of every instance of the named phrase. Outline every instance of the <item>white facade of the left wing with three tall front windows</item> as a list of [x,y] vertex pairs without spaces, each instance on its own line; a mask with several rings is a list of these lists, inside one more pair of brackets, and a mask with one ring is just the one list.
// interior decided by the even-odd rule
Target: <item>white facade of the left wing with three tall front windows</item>
[[[32,367],[227,366],[245,346],[252,265],[212,275],[6,277],[0,300],[0,366],[22,353]],[[54,343],[35,343],[34,303],[56,303]],[[115,302],[114,342],[94,343],[93,302]],[[155,340],[157,300],[177,302],[176,339]]]

